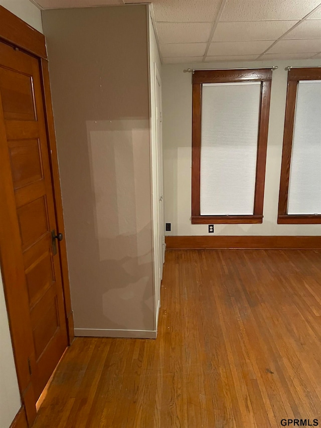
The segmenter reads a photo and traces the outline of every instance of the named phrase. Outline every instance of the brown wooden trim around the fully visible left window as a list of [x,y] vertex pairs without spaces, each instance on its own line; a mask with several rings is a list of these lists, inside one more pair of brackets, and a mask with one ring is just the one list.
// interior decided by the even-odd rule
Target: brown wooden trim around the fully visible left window
[[[197,70],[193,74],[192,107],[192,224],[262,223],[272,70]],[[201,215],[201,108],[203,83],[261,82],[258,149],[253,215]]]

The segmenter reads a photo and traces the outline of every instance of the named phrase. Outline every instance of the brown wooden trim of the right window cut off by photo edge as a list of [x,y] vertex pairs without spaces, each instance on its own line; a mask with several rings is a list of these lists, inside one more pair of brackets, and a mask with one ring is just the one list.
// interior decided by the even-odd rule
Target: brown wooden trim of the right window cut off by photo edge
[[294,129],[296,92],[299,80],[321,80],[321,68],[291,68],[287,73],[287,92],[284,119],[283,149],[278,205],[278,224],[320,224],[321,215],[287,214],[290,163]]

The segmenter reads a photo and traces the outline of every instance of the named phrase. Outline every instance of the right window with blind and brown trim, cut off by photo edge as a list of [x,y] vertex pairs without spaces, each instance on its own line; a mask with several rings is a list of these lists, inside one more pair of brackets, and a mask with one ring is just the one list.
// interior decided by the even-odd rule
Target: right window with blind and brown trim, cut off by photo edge
[[291,68],[278,223],[321,223],[321,68]]

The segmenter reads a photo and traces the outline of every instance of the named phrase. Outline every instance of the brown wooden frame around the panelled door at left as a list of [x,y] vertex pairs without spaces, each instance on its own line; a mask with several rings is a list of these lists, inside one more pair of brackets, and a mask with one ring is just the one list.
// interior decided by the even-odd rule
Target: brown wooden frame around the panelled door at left
[[[19,49],[22,52],[26,52],[32,55],[39,62],[48,151],[50,154],[49,162],[53,184],[55,214],[58,230],[60,233],[65,234],[45,36],[39,31],[30,27],[30,25],[22,21],[16,15],[9,12],[3,6],[0,6],[0,41],[12,46],[14,49]],[[6,255],[1,252],[2,238],[2,235],[0,235],[0,262],[2,266],[4,266],[7,263],[9,255],[6,257]],[[71,309],[67,249],[65,240],[59,242],[59,259],[62,274],[62,287],[64,296],[65,318],[67,325],[68,345],[70,345],[74,339],[74,322],[73,312]],[[28,373],[28,370],[26,370],[29,355],[24,340],[22,340],[25,334],[26,327],[22,322],[21,317],[17,317],[18,313],[24,313],[25,308],[23,307],[23,305],[21,308],[19,307],[19,302],[16,298],[17,292],[19,291],[15,290],[15,294],[11,290],[11,288],[7,286],[7,284],[15,281],[15,275],[19,275],[19,272],[9,273],[6,272],[4,268],[2,268],[4,292],[17,370],[18,384],[22,404],[25,407],[25,411],[27,414],[27,420],[29,425],[31,425],[37,415],[36,400],[33,394],[31,376]]]

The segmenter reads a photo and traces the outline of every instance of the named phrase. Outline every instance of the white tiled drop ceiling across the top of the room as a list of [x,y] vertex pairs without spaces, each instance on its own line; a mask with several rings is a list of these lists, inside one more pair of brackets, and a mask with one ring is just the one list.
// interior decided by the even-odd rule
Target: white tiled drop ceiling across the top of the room
[[[31,0],[40,9],[146,0]],[[153,0],[164,63],[321,57],[321,0]]]

